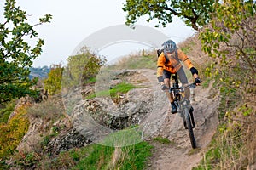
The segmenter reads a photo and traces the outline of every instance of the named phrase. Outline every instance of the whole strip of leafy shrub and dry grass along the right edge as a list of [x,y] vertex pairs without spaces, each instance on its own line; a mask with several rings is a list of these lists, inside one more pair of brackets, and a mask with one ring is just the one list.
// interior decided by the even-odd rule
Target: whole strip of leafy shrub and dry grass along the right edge
[[[211,25],[200,38],[202,50],[212,57],[206,72],[220,89],[218,133],[194,169],[246,169],[255,150],[255,1],[215,3]],[[254,143],[253,143],[254,144]]]

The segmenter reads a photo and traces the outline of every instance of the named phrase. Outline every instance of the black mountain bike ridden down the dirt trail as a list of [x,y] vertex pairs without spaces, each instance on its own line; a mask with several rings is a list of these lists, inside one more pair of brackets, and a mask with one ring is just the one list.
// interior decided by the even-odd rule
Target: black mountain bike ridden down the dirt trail
[[178,81],[175,79],[175,83],[173,83],[173,87],[169,89],[169,92],[174,96],[174,103],[177,106],[177,113],[179,116],[183,118],[183,125],[185,129],[189,130],[189,138],[190,138],[190,143],[193,149],[196,148],[195,144],[195,136],[193,132],[193,128],[195,128],[195,120],[193,116],[193,107],[190,104],[189,99],[185,98],[185,88],[195,88],[195,82],[184,86],[184,87],[179,87],[178,86]]

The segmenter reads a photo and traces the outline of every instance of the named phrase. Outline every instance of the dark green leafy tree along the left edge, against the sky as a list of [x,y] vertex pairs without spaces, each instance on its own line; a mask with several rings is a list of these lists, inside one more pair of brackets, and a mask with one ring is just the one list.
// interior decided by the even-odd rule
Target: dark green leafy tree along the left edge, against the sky
[[46,14],[38,24],[31,26],[26,22],[26,11],[15,7],[15,0],[6,0],[3,17],[3,23],[0,23],[0,104],[35,94],[31,87],[37,80],[28,78],[29,67],[32,60],[42,53],[44,40],[38,38],[35,46],[31,47],[25,39],[37,37],[34,26],[49,22],[52,18]]

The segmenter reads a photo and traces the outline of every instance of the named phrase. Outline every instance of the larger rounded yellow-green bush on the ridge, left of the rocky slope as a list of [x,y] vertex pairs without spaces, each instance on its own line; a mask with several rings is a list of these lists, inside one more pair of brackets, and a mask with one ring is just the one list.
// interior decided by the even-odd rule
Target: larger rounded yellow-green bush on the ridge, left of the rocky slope
[[[62,75],[62,88],[79,86],[96,77],[98,71],[106,63],[106,59],[90,52],[89,48],[81,48],[81,54],[70,56]],[[90,81],[89,81],[90,82]]]

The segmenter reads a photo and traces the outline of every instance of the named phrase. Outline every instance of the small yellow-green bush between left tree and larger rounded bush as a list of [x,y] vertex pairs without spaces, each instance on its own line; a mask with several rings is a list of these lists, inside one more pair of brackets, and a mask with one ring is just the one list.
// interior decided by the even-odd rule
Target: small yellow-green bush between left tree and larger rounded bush
[[44,80],[44,89],[49,94],[61,93],[61,79],[62,79],[63,67],[61,65],[51,65],[48,78]]

